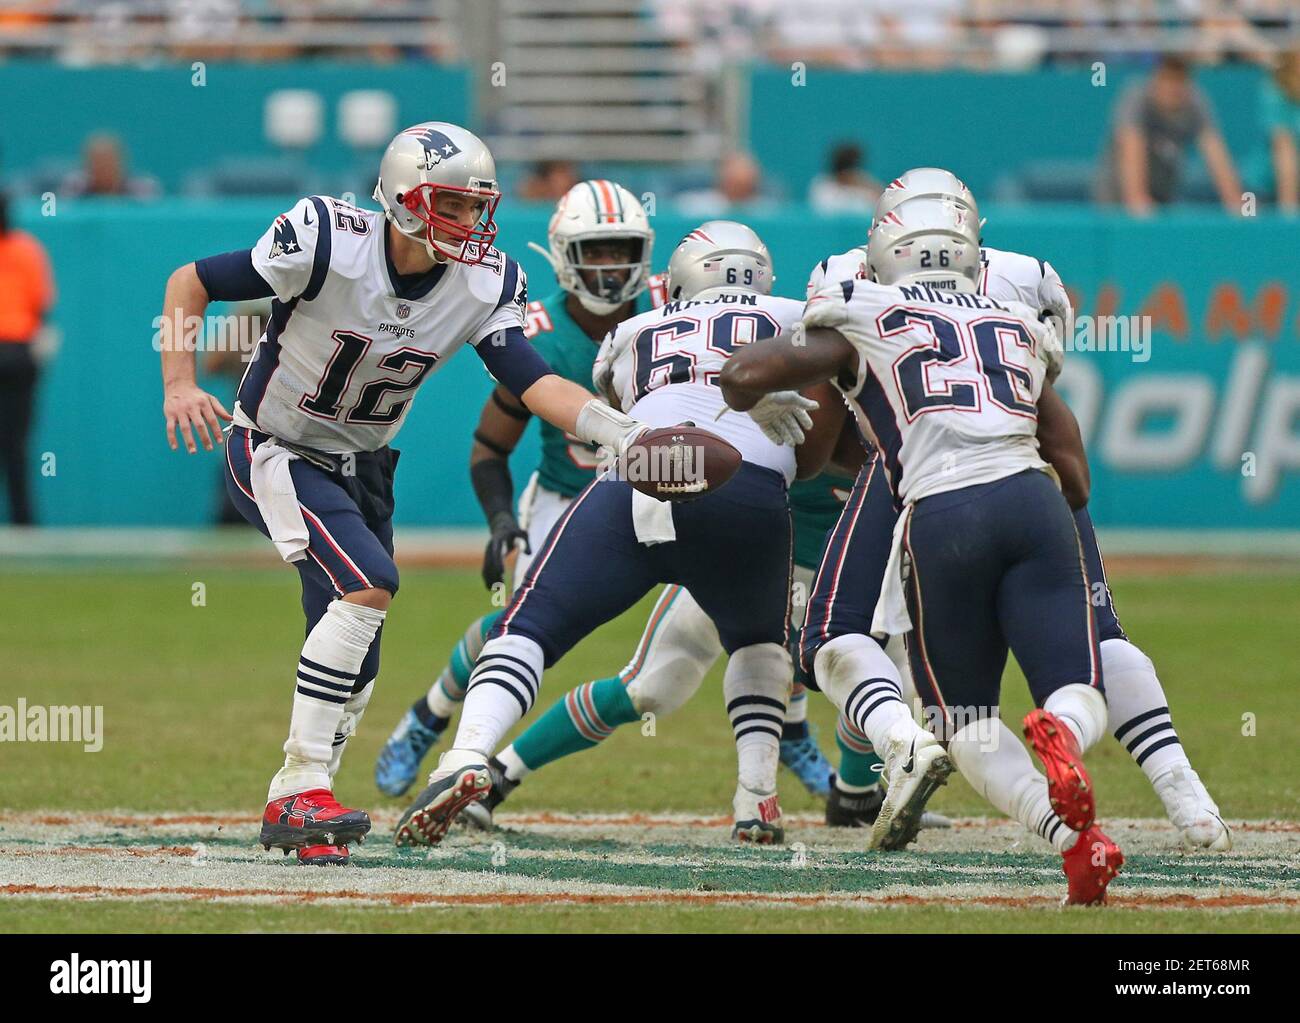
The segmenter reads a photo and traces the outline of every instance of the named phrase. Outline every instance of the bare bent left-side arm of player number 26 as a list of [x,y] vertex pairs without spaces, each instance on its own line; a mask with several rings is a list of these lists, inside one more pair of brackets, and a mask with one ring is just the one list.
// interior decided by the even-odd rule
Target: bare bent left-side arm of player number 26
[[748,412],[764,394],[824,383],[855,364],[838,330],[811,328],[746,344],[727,360],[718,382],[727,404]]

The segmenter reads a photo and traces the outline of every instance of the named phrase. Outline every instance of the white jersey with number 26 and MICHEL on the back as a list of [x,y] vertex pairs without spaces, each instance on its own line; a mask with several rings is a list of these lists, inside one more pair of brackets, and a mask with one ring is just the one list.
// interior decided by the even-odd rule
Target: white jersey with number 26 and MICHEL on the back
[[854,378],[837,386],[901,503],[1045,467],[1037,399],[1060,343],[1037,309],[845,279],[809,299],[803,324],[838,330],[857,348]]

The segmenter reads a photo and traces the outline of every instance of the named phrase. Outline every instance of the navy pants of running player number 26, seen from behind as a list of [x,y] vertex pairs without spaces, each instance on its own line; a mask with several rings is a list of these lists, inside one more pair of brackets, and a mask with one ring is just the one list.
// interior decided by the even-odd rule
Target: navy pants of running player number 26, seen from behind
[[932,720],[996,707],[1008,647],[1037,706],[1065,685],[1101,688],[1079,536],[1046,473],[922,498],[904,552],[907,653]]

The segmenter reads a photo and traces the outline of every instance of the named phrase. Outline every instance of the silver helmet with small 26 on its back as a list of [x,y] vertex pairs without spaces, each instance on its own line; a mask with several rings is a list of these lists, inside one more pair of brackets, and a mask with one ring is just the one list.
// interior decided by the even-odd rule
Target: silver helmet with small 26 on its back
[[980,273],[974,213],[952,199],[905,199],[871,229],[867,272],[881,285],[974,291]]

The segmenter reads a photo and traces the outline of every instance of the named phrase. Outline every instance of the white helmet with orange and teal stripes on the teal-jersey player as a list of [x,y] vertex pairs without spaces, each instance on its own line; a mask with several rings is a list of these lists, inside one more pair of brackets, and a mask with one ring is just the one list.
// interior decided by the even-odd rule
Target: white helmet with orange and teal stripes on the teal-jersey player
[[[536,242],[560,287],[597,316],[608,316],[650,286],[654,230],[641,203],[621,185],[592,179],[575,185],[555,205],[546,227],[549,250]],[[603,257],[593,253],[607,250]],[[615,259],[608,261],[608,250]]]

